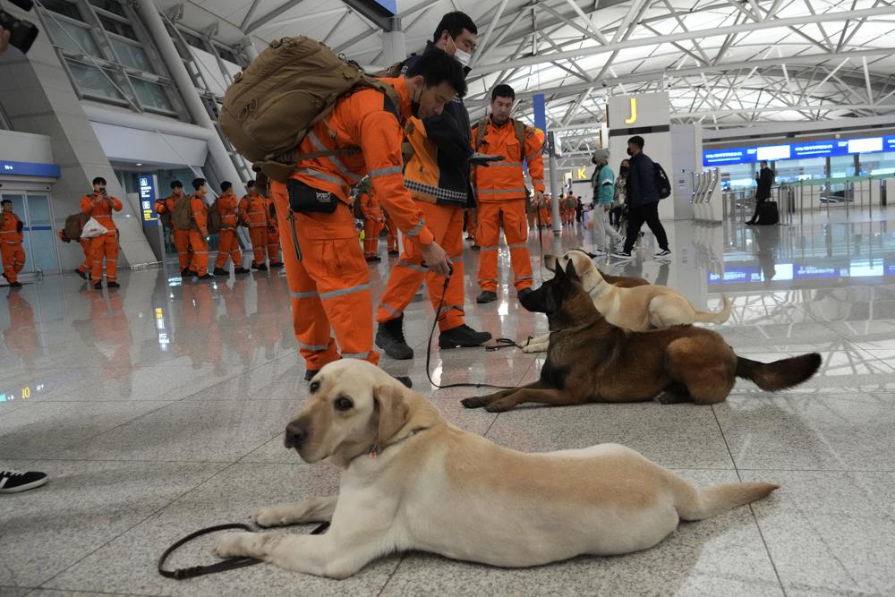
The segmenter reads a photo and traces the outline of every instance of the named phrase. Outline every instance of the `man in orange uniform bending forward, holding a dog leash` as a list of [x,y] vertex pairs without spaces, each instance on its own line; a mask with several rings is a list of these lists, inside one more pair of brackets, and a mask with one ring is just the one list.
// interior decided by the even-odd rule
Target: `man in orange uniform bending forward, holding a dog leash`
[[[280,230],[285,231],[283,254],[295,336],[309,380],[339,358],[379,362],[373,350],[370,269],[357,242],[351,209],[350,189],[362,176],[370,176],[373,192],[407,242],[419,243],[429,269],[442,276],[450,271],[447,253],[435,243],[404,185],[401,122],[411,115],[440,114],[454,96],[465,93],[463,72],[442,54],[424,56],[405,77],[381,81],[396,91],[399,106],[373,89],[340,98],[297,149],[300,155],[288,183],[271,182]],[[361,152],[301,158],[321,146],[359,147]],[[330,328],[336,338],[330,337]]]

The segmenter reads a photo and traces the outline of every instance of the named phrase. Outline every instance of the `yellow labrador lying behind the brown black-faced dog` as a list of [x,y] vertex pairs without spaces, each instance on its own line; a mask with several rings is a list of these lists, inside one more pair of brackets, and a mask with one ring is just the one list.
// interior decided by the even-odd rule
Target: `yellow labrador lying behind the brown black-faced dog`
[[[544,255],[544,265],[556,271],[556,264],[565,269],[567,263],[575,264],[575,271],[591,295],[593,306],[609,323],[619,328],[643,332],[652,328],[670,328],[696,322],[724,323],[730,317],[730,300],[724,296],[724,307],[716,312],[696,311],[683,294],[669,286],[652,284],[634,287],[619,287],[601,276],[590,256],[574,249],[561,257]],[[523,347],[524,353],[543,353],[550,346],[550,334],[533,338]]]

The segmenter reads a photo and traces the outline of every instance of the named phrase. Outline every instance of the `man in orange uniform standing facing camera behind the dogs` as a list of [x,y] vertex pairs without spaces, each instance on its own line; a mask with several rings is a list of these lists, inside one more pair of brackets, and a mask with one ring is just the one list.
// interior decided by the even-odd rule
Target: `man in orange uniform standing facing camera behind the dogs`
[[543,132],[516,123],[509,117],[516,92],[509,85],[498,85],[491,91],[491,115],[473,128],[473,148],[480,153],[503,156],[503,161],[488,167],[474,166],[473,181],[479,202],[479,233],[482,246],[479,257],[479,294],[476,303],[490,303],[498,298],[498,243],[500,227],[509,245],[513,264],[516,294],[532,292],[532,259],[528,254],[528,220],[525,215],[525,176],[523,161],[534,184],[534,204],[540,205],[544,194],[544,162],[541,149]]

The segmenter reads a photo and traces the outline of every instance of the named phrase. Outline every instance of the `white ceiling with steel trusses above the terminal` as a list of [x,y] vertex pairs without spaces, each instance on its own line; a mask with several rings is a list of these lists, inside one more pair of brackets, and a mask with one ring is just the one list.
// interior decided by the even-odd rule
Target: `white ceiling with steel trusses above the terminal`
[[[351,0],[357,2],[358,0]],[[166,9],[175,0],[158,0]],[[667,90],[672,122],[721,130],[768,122],[895,120],[895,0],[398,0],[408,53],[443,13],[479,28],[467,106],[487,110],[500,82],[517,114],[547,96],[567,150],[592,149],[610,95]],[[184,21],[217,39],[324,40],[382,64],[382,30],[343,0],[193,0]],[[577,149],[575,149],[577,148]]]

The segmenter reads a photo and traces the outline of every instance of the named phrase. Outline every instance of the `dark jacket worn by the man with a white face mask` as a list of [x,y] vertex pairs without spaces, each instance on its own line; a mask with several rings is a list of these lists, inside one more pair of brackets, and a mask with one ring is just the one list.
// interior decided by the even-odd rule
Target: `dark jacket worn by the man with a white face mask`
[[[430,41],[426,42],[426,49],[422,55],[433,52],[444,52],[444,50],[435,47]],[[407,58],[401,67],[402,74],[406,74],[419,59],[420,57],[415,55]],[[451,191],[465,189],[465,205],[458,207],[474,208],[475,193],[469,180],[469,157],[473,155],[473,130],[463,98],[455,96],[440,115],[423,118],[422,124],[426,127],[427,136],[439,147],[439,187]]]

